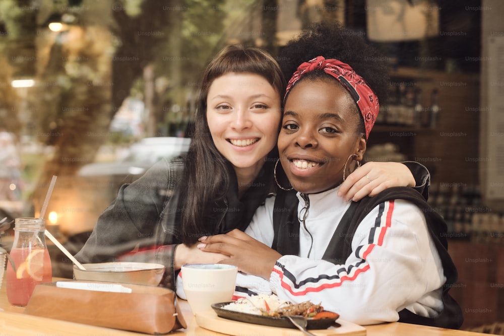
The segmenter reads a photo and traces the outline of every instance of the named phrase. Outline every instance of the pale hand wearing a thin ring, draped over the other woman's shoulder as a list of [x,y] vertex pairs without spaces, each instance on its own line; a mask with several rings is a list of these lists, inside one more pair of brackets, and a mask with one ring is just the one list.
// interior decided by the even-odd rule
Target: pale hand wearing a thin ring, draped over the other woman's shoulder
[[338,196],[345,201],[358,201],[390,187],[404,186],[415,186],[415,178],[406,165],[399,162],[367,162],[348,175],[338,190]]

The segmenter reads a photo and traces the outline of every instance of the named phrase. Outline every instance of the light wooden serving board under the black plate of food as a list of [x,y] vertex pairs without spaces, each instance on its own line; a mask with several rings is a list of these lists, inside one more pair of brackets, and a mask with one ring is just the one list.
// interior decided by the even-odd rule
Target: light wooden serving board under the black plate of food
[[[303,336],[298,329],[277,328],[272,326],[238,322],[217,316],[213,311],[198,313],[195,316],[196,323],[202,328],[225,333],[228,335],[257,335],[257,336]],[[311,333],[320,336],[332,335],[352,335],[365,336],[366,329],[360,325],[347,322],[341,319],[336,320],[341,326],[329,327],[323,330],[309,330]]]

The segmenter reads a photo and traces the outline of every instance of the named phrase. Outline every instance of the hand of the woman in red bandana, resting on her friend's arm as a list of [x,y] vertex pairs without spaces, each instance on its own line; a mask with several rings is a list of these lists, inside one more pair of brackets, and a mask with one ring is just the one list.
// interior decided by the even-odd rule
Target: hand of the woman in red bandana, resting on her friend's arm
[[270,279],[273,266],[282,256],[274,249],[238,229],[227,234],[202,237],[200,242],[198,248],[202,251],[229,256],[219,263],[236,265],[238,271],[266,280]]

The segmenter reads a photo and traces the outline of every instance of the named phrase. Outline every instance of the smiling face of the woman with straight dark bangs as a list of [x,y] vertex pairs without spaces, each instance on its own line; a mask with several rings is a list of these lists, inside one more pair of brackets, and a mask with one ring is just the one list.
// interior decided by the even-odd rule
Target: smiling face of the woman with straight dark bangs
[[259,172],[276,145],[281,116],[280,94],[260,75],[227,73],[210,85],[208,127],[237,173]]

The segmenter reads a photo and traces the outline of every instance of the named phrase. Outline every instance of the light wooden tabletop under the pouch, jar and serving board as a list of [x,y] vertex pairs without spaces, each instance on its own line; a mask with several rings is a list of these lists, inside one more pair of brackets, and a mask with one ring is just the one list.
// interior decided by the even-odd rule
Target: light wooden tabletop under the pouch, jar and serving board
[[[54,279],[59,280],[59,279]],[[170,335],[191,335],[191,336],[218,336],[222,333],[214,332],[199,327],[196,323],[191,309],[186,301],[180,302],[185,320],[188,323],[187,329],[170,333]],[[2,335],[23,335],[23,336],[43,336],[43,335],[82,335],[82,336],[125,336],[141,335],[142,333],[116,330],[110,328],[96,327],[92,325],[60,321],[23,314],[24,308],[14,307],[9,304],[6,293],[5,277],[0,288],[0,333]],[[428,327],[408,323],[384,323],[378,325],[365,326],[368,336],[477,336],[486,335],[484,333],[469,332],[454,329],[443,329]],[[293,333],[294,334],[294,329]]]

